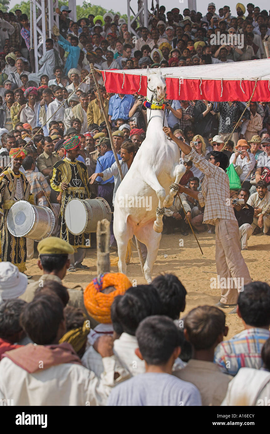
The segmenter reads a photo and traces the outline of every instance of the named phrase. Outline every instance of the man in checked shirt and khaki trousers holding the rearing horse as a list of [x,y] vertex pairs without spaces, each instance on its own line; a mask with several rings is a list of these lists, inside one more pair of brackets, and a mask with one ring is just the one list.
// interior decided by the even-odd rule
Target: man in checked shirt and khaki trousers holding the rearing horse
[[[235,307],[238,291],[241,290],[242,285],[250,283],[251,278],[241,254],[239,228],[230,201],[229,179],[225,173],[228,157],[222,152],[212,151],[207,161],[191,146],[176,138],[170,128],[164,127],[163,131],[179,146],[185,154],[185,160],[191,160],[205,174],[201,191],[179,185],[179,192],[197,199],[201,207],[205,206],[203,223],[215,225],[217,273],[220,279],[224,278],[230,283],[222,285],[224,288],[221,288],[221,300],[217,306]],[[241,278],[240,281],[243,282],[240,287],[231,284],[237,278]],[[234,313],[234,310],[230,313]]]

